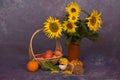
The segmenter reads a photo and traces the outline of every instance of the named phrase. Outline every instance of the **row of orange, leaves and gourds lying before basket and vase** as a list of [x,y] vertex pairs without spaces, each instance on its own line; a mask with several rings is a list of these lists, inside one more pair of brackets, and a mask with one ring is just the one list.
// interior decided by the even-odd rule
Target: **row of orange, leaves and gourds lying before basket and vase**
[[59,59],[59,66],[52,63],[52,61],[48,60],[42,64],[38,64],[37,61],[29,61],[27,63],[27,70],[30,72],[36,72],[37,70],[49,70],[51,73],[58,73],[60,70],[65,75],[77,74],[81,75],[84,73],[83,62],[80,60],[73,60],[69,62],[67,58]]

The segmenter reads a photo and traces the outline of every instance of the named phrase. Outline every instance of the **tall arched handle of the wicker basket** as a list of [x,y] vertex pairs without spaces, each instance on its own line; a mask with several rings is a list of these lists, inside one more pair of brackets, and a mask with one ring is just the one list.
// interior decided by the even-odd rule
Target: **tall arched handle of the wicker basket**
[[[34,54],[34,51],[33,51],[32,43],[33,43],[34,37],[41,31],[43,31],[42,28],[36,30],[31,36],[30,44],[29,44],[29,59],[35,59],[35,54]],[[61,47],[61,44],[60,44],[60,40],[58,38],[56,39],[56,49],[55,50],[60,50],[62,52],[62,47]]]

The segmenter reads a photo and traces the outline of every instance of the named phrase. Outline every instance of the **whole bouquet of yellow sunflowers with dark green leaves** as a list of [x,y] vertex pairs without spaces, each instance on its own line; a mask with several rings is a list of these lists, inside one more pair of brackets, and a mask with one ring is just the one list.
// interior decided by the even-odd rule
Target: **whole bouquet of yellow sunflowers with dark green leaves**
[[[48,38],[60,38],[63,34],[66,37],[66,44],[74,42],[80,44],[83,38],[92,41],[98,40],[98,30],[101,28],[101,13],[93,10],[91,13],[82,10],[78,3],[70,2],[66,8],[66,15],[62,20],[50,16],[44,23],[43,31]],[[80,15],[86,14],[86,18],[82,20]]]

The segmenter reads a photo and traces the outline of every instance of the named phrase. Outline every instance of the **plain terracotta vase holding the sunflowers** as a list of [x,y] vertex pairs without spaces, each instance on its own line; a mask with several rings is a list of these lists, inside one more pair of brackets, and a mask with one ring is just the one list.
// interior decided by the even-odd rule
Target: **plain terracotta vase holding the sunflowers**
[[68,45],[68,59],[69,61],[76,60],[80,58],[80,44],[74,44],[71,42]]

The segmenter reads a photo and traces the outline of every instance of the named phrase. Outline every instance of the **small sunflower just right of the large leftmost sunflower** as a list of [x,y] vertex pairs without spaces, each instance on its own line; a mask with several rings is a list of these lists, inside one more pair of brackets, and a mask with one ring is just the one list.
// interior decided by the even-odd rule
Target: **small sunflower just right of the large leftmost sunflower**
[[74,33],[76,32],[76,28],[77,26],[74,24],[74,22],[70,22],[70,21],[64,21],[63,23],[63,29],[64,31],[67,31],[68,33]]

